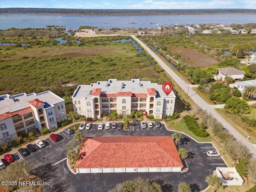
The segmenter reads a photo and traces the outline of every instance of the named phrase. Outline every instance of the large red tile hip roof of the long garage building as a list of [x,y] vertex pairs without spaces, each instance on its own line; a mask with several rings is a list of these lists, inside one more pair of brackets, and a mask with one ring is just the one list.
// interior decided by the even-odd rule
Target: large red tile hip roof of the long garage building
[[75,168],[183,167],[170,136],[85,138]]

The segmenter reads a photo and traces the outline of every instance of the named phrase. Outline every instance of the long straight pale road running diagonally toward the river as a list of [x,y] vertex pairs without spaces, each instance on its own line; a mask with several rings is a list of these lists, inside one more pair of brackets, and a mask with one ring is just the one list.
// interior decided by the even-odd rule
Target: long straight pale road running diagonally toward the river
[[251,144],[246,138],[244,138],[235,128],[233,128],[222,116],[220,116],[207,102],[205,102],[194,90],[189,89],[189,85],[186,84],[175,72],[173,72],[167,64],[165,64],[150,48],[148,48],[141,40],[136,38],[136,36],[131,35],[157,62],[160,66],[173,78],[173,80],[184,90],[188,92],[188,96],[200,106],[203,110],[208,111],[212,114],[212,117],[216,118],[220,123],[222,123],[223,128],[226,128],[234,136],[236,140],[242,141],[252,152],[254,157],[256,157],[256,147]]

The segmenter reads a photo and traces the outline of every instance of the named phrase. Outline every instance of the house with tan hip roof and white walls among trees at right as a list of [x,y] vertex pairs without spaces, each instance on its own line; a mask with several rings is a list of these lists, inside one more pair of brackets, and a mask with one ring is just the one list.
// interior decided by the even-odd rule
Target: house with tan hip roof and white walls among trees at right
[[217,75],[214,76],[215,80],[224,80],[226,76],[230,76],[234,80],[244,78],[244,70],[238,70],[234,67],[217,68]]

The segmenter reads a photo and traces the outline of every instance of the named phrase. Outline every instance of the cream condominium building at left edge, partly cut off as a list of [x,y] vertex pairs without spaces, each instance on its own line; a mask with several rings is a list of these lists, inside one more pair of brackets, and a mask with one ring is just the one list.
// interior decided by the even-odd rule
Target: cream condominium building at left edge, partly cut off
[[0,144],[11,144],[18,132],[28,133],[34,128],[57,128],[66,120],[64,99],[46,91],[42,93],[9,94],[0,96]]

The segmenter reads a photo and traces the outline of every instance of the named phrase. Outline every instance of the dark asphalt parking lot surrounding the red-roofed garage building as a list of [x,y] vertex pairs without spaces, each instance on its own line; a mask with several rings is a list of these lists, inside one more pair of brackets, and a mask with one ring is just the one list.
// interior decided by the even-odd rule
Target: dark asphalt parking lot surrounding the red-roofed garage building
[[[93,125],[91,130],[80,130],[84,136],[171,136],[172,131],[162,128],[141,129],[140,125],[134,124],[130,131],[109,129],[98,130],[97,125]],[[186,148],[190,156],[186,160],[188,170],[180,172],[162,173],[97,173],[97,174],[72,174],[66,164],[64,146],[72,139],[74,134],[67,135],[64,132],[58,134],[62,139],[53,142],[46,138],[43,142],[46,147],[24,157],[31,162],[35,169],[34,173],[40,176],[45,182],[50,182],[50,186],[44,186],[45,191],[60,192],[106,192],[116,184],[126,180],[132,180],[138,176],[157,180],[164,192],[177,191],[181,182],[186,182],[194,188],[194,191],[205,189],[205,177],[212,174],[216,166],[226,167],[222,158],[209,158],[206,155],[208,150],[214,150],[211,143],[197,143],[191,138],[183,135],[180,147]]]

